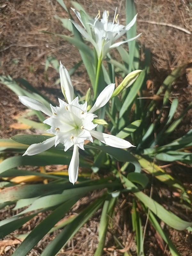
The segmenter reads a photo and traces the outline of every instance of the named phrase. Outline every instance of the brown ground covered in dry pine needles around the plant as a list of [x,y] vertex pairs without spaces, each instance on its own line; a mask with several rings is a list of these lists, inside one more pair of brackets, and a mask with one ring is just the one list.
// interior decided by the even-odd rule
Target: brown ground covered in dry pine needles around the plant
[[[65,2],[68,7],[71,6],[69,1]],[[78,2],[92,16],[96,16],[98,10],[104,11],[105,9],[109,10],[110,13],[114,13],[117,6],[119,21],[122,24],[125,22],[124,1],[81,0]],[[172,69],[192,61],[192,2],[188,0],[136,0],[135,4],[138,12],[138,33],[142,32],[139,41],[152,52],[150,79],[154,84],[161,84]],[[40,92],[45,93],[46,96],[56,102],[58,97],[62,97],[60,84],[55,84],[59,76],[51,67],[48,68],[45,75],[46,57],[54,55],[69,69],[80,60],[80,56],[68,42],[59,37],[49,36],[41,32],[41,30],[46,30],[52,33],[70,35],[67,30],[62,28],[60,21],[54,18],[55,15],[68,18],[67,13],[56,0],[0,1],[0,75],[10,75],[14,79],[19,77],[26,78]],[[185,108],[191,101],[191,70],[189,65],[181,79],[175,84],[172,92],[173,95],[177,95],[179,98],[181,109]],[[76,89],[81,92],[86,92],[89,87],[89,81],[83,67],[79,68],[76,74],[72,76],[72,81]],[[18,97],[12,91],[2,84],[0,86],[0,138],[9,138],[14,134],[24,132],[31,133],[29,130],[23,131],[10,127],[16,123],[14,116],[20,114],[26,108],[19,102]],[[188,131],[191,126],[191,112],[189,112],[177,134],[180,135]],[[188,179],[190,179],[189,170],[182,170],[181,168],[176,171],[175,175],[182,177],[182,181],[190,186],[188,182]],[[165,195],[169,194],[169,191],[166,191],[165,188],[159,188],[159,191],[165,191]],[[96,195],[89,195],[89,197],[92,196]],[[86,198],[84,200],[86,202]],[[122,206],[124,198],[121,200],[119,203],[120,210],[116,209],[115,233],[113,233],[113,230],[109,230],[106,255],[122,255],[122,252],[117,252],[113,247],[113,239],[111,239],[113,236],[122,236],[125,244],[127,244],[127,241],[132,241],[131,234],[128,231],[129,209],[131,208],[129,204]],[[72,209],[70,214],[77,213],[78,207],[76,205],[76,208]],[[10,209],[1,213],[3,218],[13,214]],[[100,212],[96,213],[92,220],[84,225],[68,244],[66,252],[61,252],[60,256],[93,254],[98,241],[99,214]],[[44,214],[37,216],[36,219],[33,219],[28,225],[20,229],[20,232],[26,232],[34,228],[43,217]],[[124,225],[124,230],[121,229],[122,225]],[[169,230],[169,232],[181,255],[192,255],[191,234],[187,231]],[[40,255],[44,246],[55,235],[56,233],[51,236],[45,236],[28,255]],[[130,244],[132,255],[135,255],[134,246],[134,243]],[[3,250],[0,249],[0,255],[12,255],[16,247],[17,244],[10,244],[5,248],[2,247]],[[155,232],[146,234],[145,248],[146,255],[170,255],[166,248],[162,247],[161,239]]]

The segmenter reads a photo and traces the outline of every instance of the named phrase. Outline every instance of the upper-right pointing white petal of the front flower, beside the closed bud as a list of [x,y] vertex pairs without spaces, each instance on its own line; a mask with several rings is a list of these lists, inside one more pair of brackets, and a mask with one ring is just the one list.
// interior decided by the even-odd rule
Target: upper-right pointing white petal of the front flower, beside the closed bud
[[113,94],[114,88],[115,88],[115,84],[109,84],[107,87],[105,87],[105,89],[97,97],[97,100],[95,101],[95,104],[89,110],[88,113],[93,113],[95,110],[105,106],[105,104],[111,98],[111,95]]

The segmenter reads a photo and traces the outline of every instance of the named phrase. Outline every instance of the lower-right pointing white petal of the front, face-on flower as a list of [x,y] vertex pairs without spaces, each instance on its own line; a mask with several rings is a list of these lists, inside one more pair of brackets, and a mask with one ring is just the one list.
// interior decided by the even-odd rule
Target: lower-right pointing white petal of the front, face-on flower
[[90,131],[91,135],[108,146],[115,148],[130,148],[134,147],[130,142],[120,139],[114,135],[106,134],[103,132]]

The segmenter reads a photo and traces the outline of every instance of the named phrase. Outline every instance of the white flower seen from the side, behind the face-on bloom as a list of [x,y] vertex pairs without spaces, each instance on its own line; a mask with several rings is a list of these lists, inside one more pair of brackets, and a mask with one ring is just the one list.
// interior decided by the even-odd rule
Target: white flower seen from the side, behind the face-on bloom
[[[77,18],[80,20],[81,24],[85,28],[81,18],[81,14],[77,12],[75,9],[73,8],[71,9],[75,12]],[[135,17],[126,27],[119,24],[119,21],[117,19],[118,15],[116,15],[116,12],[115,12],[113,22],[109,22],[108,17],[109,17],[108,12],[104,11],[103,17],[100,21],[99,21],[99,18],[100,18],[100,13],[99,13],[95,18],[95,20],[90,20],[90,22],[88,23],[92,27],[92,30],[95,34],[95,39],[93,39],[86,32],[84,28],[79,26],[78,23],[76,23],[74,20],[71,20],[71,22],[75,25],[75,27],[79,30],[79,32],[85,37],[85,39],[90,41],[93,44],[97,52],[98,58],[101,58],[102,60],[105,58],[105,56],[110,51],[110,49],[118,47],[121,44],[130,42],[141,35],[139,34],[138,36],[130,38],[129,40],[115,43],[116,40],[118,40],[121,36],[123,36],[126,33],[126,31],[128,31],[134,25],[134,23],[136,22],[137,15],[135,15]]]

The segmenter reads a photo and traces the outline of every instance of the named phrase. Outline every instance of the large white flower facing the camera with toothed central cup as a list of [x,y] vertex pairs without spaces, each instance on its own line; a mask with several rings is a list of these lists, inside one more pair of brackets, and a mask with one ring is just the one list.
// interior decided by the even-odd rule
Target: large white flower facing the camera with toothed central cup
[[74,184],[77,181],[79,168],[78,147],[84,150],[84,140],[90,140],[93,142],[93,136],[101,142],[116,148],[129,148],[132,144],[113,135],[93,130],[97,124],[93,124],[92,120],[97,116],[92,114],[92,112],[103,107],[109,101],[114,91],[115,84],[109,84],[100,93],[93,107],[87,112],[87,102],[79,104],[78,97],[73,100],[73,84],[67,69],[61,63],[60,78],[61,86],[65,91],[68,103],[59,99],[59,107],[53,107],[50,104],[52,112],[46,108],[43,103],[37,100],[30,99],[26,96],[19,97],[21,103],[25,106],[35,110],[40,110],[50,116],[44,121],[44,123],[51,126],[47,132],[55,135],[41,143],[32,144],[28,147],[24,155],[32,156],[41,153],[54,145],[56,147],[59,143],[64,144],[64,151],[67,151],[74,145],[73,155],[68,168],[69,181]]

